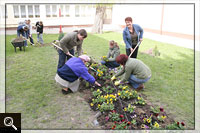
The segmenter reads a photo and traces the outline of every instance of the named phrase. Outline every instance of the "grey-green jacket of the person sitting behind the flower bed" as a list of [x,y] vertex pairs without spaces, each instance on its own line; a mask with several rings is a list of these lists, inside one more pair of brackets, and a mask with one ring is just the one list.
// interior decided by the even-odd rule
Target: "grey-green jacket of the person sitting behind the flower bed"
[[117,46],[110,48],[107,55],[108,61],[115,61],[118,55],[120,55],[120,50]]

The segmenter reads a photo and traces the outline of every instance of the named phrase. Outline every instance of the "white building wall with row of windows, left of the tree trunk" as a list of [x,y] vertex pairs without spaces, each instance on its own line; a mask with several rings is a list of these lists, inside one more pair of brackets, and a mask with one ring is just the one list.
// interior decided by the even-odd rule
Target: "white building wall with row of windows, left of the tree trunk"
[[[21,5],[21,4],[20,4]],[[20,7],[20,5],[18,5]],[[24,21],[25,19],[30,19],[32,21],[32,23],[36,23],[37,21],[43,21],[44,26],[58,26],[58,25],[91,25],[93,24],[93,20],[94,20],[94,16],[95,16],[95,6],[92,5],[75,5],[75,4],[54,4],[57,7],[56,10],[56,17],[53,17],[53,13],[51,12],[51,17],[47,17],[47,11],[46,11],[46,5],[45,4],[40,4],[39,5],[39,9],[40,9],[40,17],[35,17],[35,15],[33,15],[33,18],[29,18],[28,17],[28,5],[25,5],[26,7],[26,18],[22,18],[21,17],[21,13],[20,13],[20,17],[19,18],[15,18],[14,17],[14,11],[13,11],[13,4],[8,4],[7,5],[7,14],[8,14],[8,18],[6,20],[6,26],[7,27],[16,27],[18,25],[18,22],[20,21]],[[59,8],[60,6],[69,6],[70,10],[69,10],[69,14],[70,16],[63,16],[63,17],[59,17]],[[50,5],[51,7],[51,11],[52,11],[52,6],[53,4]],[[33,5],[34,7],[34,5]],[[75,11],[76,7],[79,7],[79,13],[77,14],[77,12]],[[20,9],[20,8],[19,8]],[[65,13],[62,12],[63,14]],[[62,15],[61,13],[61,15]],[[35,14],[35,11],[34,13]],[[79,15],[79,16],[76,16]]]

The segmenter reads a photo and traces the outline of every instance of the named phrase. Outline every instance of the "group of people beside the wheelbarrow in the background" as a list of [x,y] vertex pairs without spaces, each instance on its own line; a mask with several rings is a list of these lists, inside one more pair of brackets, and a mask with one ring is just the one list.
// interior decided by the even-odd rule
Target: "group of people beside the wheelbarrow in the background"
[[[37,32],[37,42],[40,44],[43,44],[43,22],[42,21],[38,21],[36,22],[35,26],[33,26],[34,29],[36,29]],[[34,45],[34,40],[32,37],[32,25],[31,25],[31,20],[25,20],[22,22],[19,22],[19,25],[17,27],[17,36],[20,37],[24,37],[25,42],[24,42],[24,46],[28,47],[27,44],[27,40],[30,39],[30,43],[31,45]]]

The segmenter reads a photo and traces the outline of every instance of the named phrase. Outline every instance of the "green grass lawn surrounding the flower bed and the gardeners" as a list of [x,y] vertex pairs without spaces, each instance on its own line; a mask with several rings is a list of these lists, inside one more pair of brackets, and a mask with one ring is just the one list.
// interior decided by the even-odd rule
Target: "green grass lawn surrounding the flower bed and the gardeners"
[[[92,113],[88,111],[87,103],[82,101],[83,105],[80,107],[73,106],[80,102],[72,102],[70,99],[80,97],[80,100],[81,94],[78,92],[63,96],[55,84],[58,61],[55,49],[52,46],[29,46],[26,52],[18,50],[15,53],[10,44],[14,37],[10,35],[6,38],[6,111],[21,112],[22,128],[26,129],[78,128],[76,122],[66,119],[71,119],[69,112],[77,112],[77,108],[80,108],[88,114],[84,114],[80,120],[77,118],[77,121],[86,123],[82,128],[92,128],[87,124],[87,120],[84,121]],[[35,35],[33,37],[36,38]],[[57,38],[58,34],[44,34],[45,43]],[[100,57],[107,54],[109,40],[117,41],[121,53],[125,53],[122,35],[113,32],[89,34],[83,49],[100,61]],[[161,56],[152,57],[141,53],[154,48],[155,45]],[[163,106],[175,120],[184,121],[188,128],[194,128],[194,51],[145,38],[139,48],[138,59],[152,70],[152,78],[145,84],[146,88],[141,93],[147,95],[147,99],[153,105]],[[71,113],[73,118],[76,118],[75,114]],[[65,116],[66,119],[61,116]],[[70,124],[66,124],[67,121],[70,121]]]

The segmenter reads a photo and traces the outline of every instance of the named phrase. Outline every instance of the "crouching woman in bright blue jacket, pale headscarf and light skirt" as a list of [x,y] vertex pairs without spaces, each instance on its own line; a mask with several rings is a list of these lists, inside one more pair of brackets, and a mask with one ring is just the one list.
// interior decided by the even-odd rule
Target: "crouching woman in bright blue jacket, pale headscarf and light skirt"
[[101,86],[95,78],[88,73],[88,69],[85,66],[86,62],[89,62],[90,58],[87,55],[81,55],[79,57],[70,58],[63,67],[57,70],[55,80],[62,87],[62,93],[68,94],[78,91],[79,78],[82,77],[87,82]]

